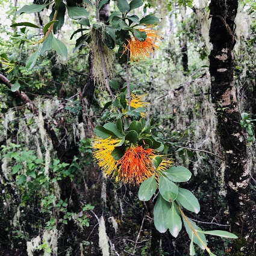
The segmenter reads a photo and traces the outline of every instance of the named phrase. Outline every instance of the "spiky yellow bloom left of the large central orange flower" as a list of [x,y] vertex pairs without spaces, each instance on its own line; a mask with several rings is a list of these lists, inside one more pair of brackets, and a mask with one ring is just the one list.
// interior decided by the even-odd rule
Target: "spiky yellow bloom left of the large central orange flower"
[[119,142],[120,140],[111,139],[111,137],[107,139],[95,137],[92,139],[92,148],[98,149],[97,151],[93,152],[93,158],[95,158],[95,162],[106,176],[113,176],[117,171],[118,161],[114,160],[114,158],[111,156],[111,152]]

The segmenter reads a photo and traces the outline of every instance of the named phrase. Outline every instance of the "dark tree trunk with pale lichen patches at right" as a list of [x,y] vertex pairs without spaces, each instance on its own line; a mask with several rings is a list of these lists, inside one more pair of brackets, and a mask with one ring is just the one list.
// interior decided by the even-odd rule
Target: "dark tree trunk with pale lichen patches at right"
[[246,140],[240,126],[240,112],[233,80],[234,19],[237,0],[211,0],[209,55],[211,97],[216,107],[217,131],[225,154],[226,201],[234,239],[232,255],[253,256],[254,221],[247,170]]

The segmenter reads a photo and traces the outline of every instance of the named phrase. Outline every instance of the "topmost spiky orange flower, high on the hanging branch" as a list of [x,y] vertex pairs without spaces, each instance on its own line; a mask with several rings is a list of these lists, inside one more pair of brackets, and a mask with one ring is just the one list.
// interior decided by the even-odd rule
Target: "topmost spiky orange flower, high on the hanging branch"
[[128,51],[128,57],[130,57],[131,62],[144,60],[145,57],[150,57],[151,53],[154,53],[158,46],[155,45],[157,39],[160,38],[156,33],[158,31],[150,30],[152,26],[146,28],[139,28],[139,31],[144,31],[146,33],[145,41],[140,41],[136,37],[130,37],[127,43],[123,43],[123,54]]

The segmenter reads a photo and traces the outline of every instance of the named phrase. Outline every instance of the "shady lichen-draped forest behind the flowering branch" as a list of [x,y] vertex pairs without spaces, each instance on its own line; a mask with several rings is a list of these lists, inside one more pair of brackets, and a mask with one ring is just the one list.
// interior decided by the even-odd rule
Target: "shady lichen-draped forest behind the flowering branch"
[[[198,198],[201,210],[184,212],[203,230],[239,237],[207,236],[216,255],[254,255],[256,4],[134,2],[131,14],[150,16],[160,38],[149,58],[129,63],[128,80],[133,93],[149,102],[145,118],[154,119],[151,130],[162,154],[192,172],[182,187]],[[140,201],[139,186],[106,178],[93,161],[95,126],[115,118],[105,103],[128,83],[118,39],[99,20],[113,25],[123,1],[64,3],[54,1],[58,21],[49,23],[55,10],[49,1],[0,2],[0,254],[208,255],[200,243],[193,252],[186,228],[176,237],[155,228],[157,193]],[[26,4],[46,8],[19,11]],[[231,7],[236,14],[229,15]],[[50,28],[51,47],[39,49],[42,42],[35,42]],[[103,28],[109,30],[104,37],[97,32],[89,38]],[[214,53],[222,43],[227,63]],[[214,74],[214,59],[229,73],[221,66],[216,70],[222,74]],[[227,91],[228,103],[217,99]],[[236,137],[242,144],[234,145]]]

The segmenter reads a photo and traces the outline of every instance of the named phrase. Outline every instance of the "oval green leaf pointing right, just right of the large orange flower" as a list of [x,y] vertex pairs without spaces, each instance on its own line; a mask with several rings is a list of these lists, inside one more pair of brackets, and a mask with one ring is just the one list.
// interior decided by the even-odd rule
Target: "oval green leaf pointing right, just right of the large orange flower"
[[183,183],[190,180],[192,173],[183,166],[173,166],[164,170],[163,175],[175,183]]

